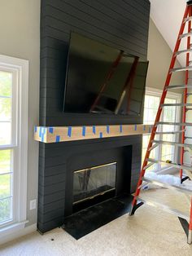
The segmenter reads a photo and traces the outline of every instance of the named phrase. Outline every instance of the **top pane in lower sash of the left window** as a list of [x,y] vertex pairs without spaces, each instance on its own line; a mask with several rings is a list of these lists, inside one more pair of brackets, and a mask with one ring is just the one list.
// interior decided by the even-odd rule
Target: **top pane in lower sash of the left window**
[[0,150],[0,174],[11,172],[11,150]]

